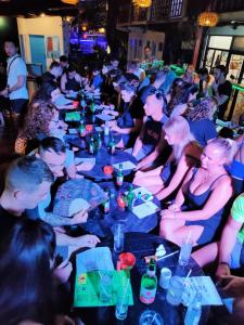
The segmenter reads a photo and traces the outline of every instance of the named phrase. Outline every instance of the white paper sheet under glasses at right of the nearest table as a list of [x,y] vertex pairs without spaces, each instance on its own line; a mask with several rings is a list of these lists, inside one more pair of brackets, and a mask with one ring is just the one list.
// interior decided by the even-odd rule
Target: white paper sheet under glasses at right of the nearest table
[[[190,276],[189,296],[193,300],[196,292],[202,296],[202,306],[220,306],[222,300],[213,283],[210,276]],[[187,284],[188,285],[188,284]]]

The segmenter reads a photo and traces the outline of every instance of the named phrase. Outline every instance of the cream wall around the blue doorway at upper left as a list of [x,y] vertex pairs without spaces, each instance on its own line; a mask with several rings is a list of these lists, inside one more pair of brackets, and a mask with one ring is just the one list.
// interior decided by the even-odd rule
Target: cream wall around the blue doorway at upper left
[[[29,35],[41,35],[46,38],[48,36],[57,36],[60,41],[60,54],[64,54],[64,40],[63,40],[63,24],[62,17],[46,16],[37,18],[17,18],[18,35],[24,36],[24,47],[26,63],[31,63]],[[47,60],[49,67],[52,58]]]

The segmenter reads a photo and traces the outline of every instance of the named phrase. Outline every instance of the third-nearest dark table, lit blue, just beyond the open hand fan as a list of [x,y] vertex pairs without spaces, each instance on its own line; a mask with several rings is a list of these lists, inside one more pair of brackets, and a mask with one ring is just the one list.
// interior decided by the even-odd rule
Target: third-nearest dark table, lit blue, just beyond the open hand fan
[[[101,147],[101,150],[95,155],[89,154],[88,151],[86,150],[86,151],[80,151],[80,152],[76,153],[76,157],[81,157],[81,158],[94,157],[95,158],[94,167],[89,171],[81,171],[81,173],[87,178],[95,180],[97,182],[101,182],[102,180],[112,180],[114,178],[114,174],[105,174],[104,173],[104,171],[103,171],[104,166],[111,166],[111,165],[123,162],[126,160],[131,161],[136,166],[138,164],[137,159],[132,155],[130,155],[126,152],[123,152],[120,150],[115,150],[115,153],[113,155],[111,155],[108,153],[108,150],[104,146]],[[127,176],[130,172],[131,172],[131,170],[125,170],[124,174]]]

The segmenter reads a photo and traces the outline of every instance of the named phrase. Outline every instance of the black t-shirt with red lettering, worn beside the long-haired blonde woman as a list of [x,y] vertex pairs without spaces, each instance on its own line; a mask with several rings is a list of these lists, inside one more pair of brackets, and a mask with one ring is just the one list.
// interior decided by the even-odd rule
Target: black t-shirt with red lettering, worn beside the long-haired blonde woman
[[142,138],[143,144],[150,144],[156,146],[162,136],[163,125],[168,120],[167,116],[164,115],[162,120],[156,121],[151,117],[147,117],[144,123],[144,132]]

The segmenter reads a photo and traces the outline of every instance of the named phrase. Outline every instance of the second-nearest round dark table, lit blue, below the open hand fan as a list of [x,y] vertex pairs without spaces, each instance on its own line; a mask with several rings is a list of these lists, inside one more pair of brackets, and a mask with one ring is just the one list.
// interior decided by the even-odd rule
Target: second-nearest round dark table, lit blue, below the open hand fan
[[[149,233],[152,231],[158,223],[158,213],[150,214],[145,218],[139,219],[132,211],[121,211],[117,205],[117,196],[120,193],[125,193],[129,190],[129,183],[123,184],[119,188],[113,182],[103,182],[99,184],[103,190],[105,187],[110,188],[110,193],[114,195],[114,198],[111,198],[111,211],[104,213],[101,207],[89,212],[89,218],[82,229],[87,232],[98,235],[100,237],[106,237],[113,235],[113,226],[115,223],[119,222],[124,224],[125,232],[142,232]],[[133,186],[138,187],[138,186]],[[153,198],[153,202],[159,207],[160,204],[156,197]],[[136,200],[134,205],[142,204]]]

